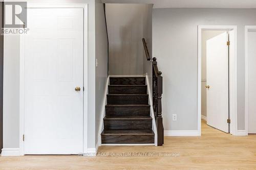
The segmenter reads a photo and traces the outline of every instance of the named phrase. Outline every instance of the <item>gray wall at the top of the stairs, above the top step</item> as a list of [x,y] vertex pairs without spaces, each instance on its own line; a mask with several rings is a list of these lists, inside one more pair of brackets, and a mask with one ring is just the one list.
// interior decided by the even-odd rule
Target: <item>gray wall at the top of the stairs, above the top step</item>
[[142,75],[148,4],[106,4],[110,75]]

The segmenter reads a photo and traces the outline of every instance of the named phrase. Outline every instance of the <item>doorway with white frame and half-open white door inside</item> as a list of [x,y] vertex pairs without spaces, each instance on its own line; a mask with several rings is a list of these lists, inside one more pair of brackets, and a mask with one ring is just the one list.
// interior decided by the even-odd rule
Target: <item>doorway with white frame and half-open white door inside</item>
[[234,134],[236,126],[236,26],[198,27],[198,129],[203,123]]

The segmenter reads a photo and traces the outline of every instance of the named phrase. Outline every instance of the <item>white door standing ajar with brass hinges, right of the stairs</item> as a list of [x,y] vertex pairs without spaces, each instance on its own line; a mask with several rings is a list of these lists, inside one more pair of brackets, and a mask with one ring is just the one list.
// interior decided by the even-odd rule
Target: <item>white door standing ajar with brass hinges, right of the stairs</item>
[[228,34],[206,42],[207,125],[229,132],[228,128]]

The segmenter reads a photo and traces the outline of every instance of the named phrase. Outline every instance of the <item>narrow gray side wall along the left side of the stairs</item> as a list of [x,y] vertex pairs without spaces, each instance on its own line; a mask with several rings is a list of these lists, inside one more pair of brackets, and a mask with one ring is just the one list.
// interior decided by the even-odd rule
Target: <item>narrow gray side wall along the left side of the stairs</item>
[[[106,36],[105,15],[100,0],[95,3],[95,40],[96,40],[96,103],[95,103],[95,142],[98,141],[100,115],[102,111],[106,79],[108,78],[108,39]],[[100,129],[101,130],[101,129]]]

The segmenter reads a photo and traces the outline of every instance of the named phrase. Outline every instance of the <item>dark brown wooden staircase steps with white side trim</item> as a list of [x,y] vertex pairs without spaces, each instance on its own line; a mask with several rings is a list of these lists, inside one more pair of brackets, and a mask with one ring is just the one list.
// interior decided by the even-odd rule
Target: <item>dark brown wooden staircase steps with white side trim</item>
[[145,77],[111,77],[102,144],[154,143]]

